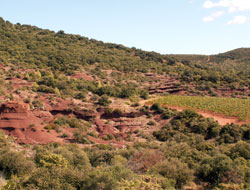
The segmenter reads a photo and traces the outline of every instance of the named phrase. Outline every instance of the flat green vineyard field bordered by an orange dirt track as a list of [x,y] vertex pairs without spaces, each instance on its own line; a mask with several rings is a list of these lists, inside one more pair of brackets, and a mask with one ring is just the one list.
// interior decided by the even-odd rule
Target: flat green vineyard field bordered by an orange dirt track
[[153,100],[151,103],[212,111],[237,117],[241,121],[250,120],[250,99],[170,95]]

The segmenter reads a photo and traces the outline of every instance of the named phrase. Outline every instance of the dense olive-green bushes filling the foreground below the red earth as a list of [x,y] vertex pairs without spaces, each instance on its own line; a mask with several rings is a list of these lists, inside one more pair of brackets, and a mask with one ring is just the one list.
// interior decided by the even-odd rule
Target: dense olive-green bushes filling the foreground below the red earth
[[[194,186],[192,182],[208,189],[250,187],[249,125],[220,126],[194,111],[176,112],[158,104],[151,110],[171,111],[169,124],[153,133],[161,144],[151,140],[117,149],[51,143],[34,146],[27,154],[10,148],[1,134],[0,169],[8,179],[3,189],[160,190]],[[55,123],[79,125],[71,120],[58,118]]]

